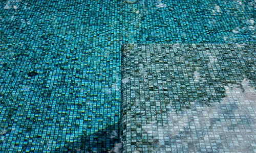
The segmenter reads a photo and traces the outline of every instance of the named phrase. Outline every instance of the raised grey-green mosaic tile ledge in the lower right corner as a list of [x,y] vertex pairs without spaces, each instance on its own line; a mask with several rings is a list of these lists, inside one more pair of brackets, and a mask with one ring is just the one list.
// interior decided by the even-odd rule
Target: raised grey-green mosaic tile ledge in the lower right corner
[[255,49],[123,45],[123,152],[255,151]]

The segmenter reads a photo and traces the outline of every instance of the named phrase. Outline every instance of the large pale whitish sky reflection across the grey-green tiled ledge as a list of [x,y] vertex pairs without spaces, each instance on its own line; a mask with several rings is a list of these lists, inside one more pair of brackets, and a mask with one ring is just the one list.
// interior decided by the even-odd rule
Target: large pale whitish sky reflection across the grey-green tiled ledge
[[248,83],[224,86],[226,97],[211,107],[194,103],[180,112],[171,109],[163,126],[153,118],[144,129],[149,141],[157,143],[153,152],[163,151],[166,144],[172,151],[253,152],[256,90]]

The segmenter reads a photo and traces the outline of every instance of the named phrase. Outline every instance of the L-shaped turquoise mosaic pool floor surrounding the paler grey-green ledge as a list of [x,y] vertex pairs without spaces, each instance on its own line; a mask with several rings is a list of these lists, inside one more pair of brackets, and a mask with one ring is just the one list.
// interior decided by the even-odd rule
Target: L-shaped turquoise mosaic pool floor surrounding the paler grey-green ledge
[[254,43],[254,6],[1,1],[1,151],[119,151],[122,44]]

